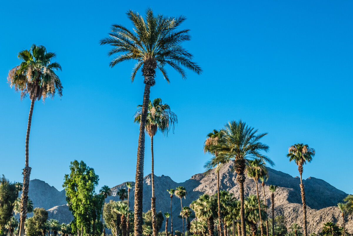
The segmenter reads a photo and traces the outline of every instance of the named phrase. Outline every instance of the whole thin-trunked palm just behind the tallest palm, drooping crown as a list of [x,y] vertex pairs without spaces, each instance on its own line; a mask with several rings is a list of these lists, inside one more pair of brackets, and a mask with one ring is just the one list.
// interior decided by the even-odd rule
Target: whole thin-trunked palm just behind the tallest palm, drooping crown
[[[141,122],[142,105],[138,105],[139,108],[135,114],[134,122]],[[161,98],[156,98],[151,102],[148,102],[148,111],[146,118],[146,133],[151,137],[151,156],[152,156],[152,172],[151,172],[151,186],[152,186],[152,198],[151,198],[151,212],[152,212],[152,232],[153,236],[157,236],[157,217],[156,217],[156,196],[154,188],[154,153],[153,153],[153,137],[159,130],[163,134],[167,134],[170,129],[174,130],[174,124],[178,123],[177,115],[170,111],[168,104],[164,103]]]

